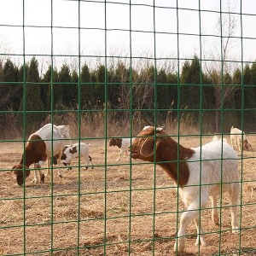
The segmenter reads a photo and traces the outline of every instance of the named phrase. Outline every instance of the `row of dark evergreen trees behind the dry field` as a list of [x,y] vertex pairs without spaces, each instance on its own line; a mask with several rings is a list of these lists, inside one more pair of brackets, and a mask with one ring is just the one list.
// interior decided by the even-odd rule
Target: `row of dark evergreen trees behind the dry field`
[[107,70],[104,65],[92,69],[84,64],[80,74],[67,64],[59,71],[49,66],[40,76],[35,57],[20,67],[7,60],[0,61],[0,98],[1,126],[9,113],[21,113],[24,108],[28,111],[27,124],[35,124],[51,110],[103,110],[107,99],[108,109],[118,113],[115,119],[129,118],[131,108],[140,119],[154,119],[148,109],[157,108],[161,124],[172,112],[172,118],[182,113],[191,124],[200,121],[207,130],[212,127],[212,131],[219,131],[224,124],[228,131],[231,125],[241,127],[244,122],[247,131],[255,131],[256,63],[232,73],[224,72],[224,68],[203,72],[195,56],[183,62],[179,73],[156,70],[154,65],[129,69],[118,61]]

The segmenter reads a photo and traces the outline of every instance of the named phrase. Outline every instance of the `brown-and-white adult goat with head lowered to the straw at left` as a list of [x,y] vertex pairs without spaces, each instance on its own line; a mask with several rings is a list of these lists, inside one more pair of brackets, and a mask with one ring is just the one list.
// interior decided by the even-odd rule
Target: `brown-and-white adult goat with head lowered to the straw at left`
[[[26,143],[25,152],[22,154],[20,164],[13,167],[17,183],[22,185],[24,182],[23,168],[25,168],[25,178],[30,175],[29,166],[34,164],[35,168],[40,168],[44,161],[47,160],[48,168],[50,166],[49,158],[52,155],[59,155],[59,177],[61,177],[60,161],[62,148],[64,146],[63,136],[56,125],[47,124],[41,129],[34,132]],[[38,183],[38,171],[40,175],[40,181],[44,183],[44,174],[41,170],[34,172],[33,182]]]

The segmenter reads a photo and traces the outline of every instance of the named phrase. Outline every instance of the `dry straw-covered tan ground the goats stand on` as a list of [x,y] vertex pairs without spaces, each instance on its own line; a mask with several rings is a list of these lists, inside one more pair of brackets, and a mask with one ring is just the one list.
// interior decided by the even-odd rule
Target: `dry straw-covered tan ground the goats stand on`
[[[210,140],[203,137],[202,143]],[[195,147],[200,138],[180,141]],[[32,172],[26,186],[19,187],[10,170],[20,161],[23,144],[1,142],[0,255],[175,255],[177,211],[185,207],[172,180],[153,164],[125,157],[117,163],[119,148],[107,146],[105,157],[108,143],[103,140],[91,143],[94,169],[67,171],[63,166],[62,179],[55,169],[44,184],[32,183]],[[240,160],[241,230],[230,230],[224,195],[220,225],[212,224],[210,209],[201,211],[207,247],[195,246],[195,225],[189,224],[185,255],[256,255],[256,136],[250,143],[253,152]]]

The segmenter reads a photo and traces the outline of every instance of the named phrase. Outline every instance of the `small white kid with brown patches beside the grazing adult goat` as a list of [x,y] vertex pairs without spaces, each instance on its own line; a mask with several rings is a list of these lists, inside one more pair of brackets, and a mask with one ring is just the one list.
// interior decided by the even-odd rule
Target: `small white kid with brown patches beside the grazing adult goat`
[[84,160],[86,161],[85,169],[88,169],[88,165],[90,162],[91,169],[93,169],[93,163],[91,160],[91,157],[89,155],[89,146],[90,144],[86,143],[74,143],[73,145],[66,145],[63,148],[63,152],[61,155],[62,163],[65,166],[68,166],[68,169],[71,170],[72,167],[70,166],[71,160],[75,157],[79,157],[79,145],[80,145],[80,155],[84,157]]

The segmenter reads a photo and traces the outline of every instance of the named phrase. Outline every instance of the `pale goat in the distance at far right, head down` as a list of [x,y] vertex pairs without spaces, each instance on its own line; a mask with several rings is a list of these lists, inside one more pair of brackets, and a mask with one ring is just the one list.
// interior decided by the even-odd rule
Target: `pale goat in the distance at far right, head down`
[[247,151],[249,151],[249,149],[253,150],[251,144],[248,143],[247,137],[244,132],[237,128],[234,128],[234,126],[232,126],[230,129],[230,141],[232,148],[234,148],[234,146],[236,145],[240,152],[241,148],[246,149]]

